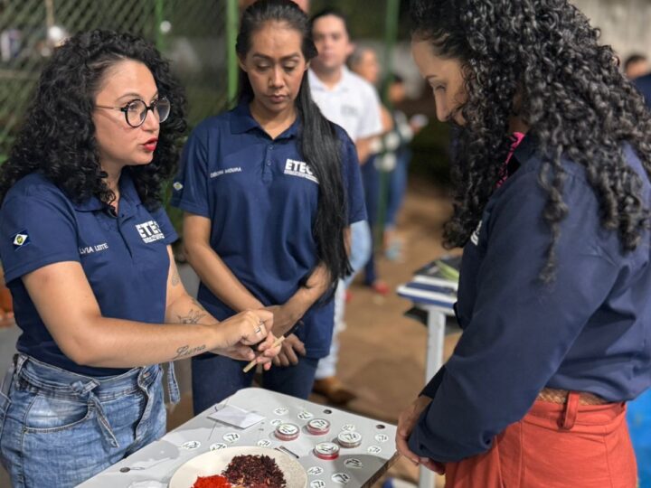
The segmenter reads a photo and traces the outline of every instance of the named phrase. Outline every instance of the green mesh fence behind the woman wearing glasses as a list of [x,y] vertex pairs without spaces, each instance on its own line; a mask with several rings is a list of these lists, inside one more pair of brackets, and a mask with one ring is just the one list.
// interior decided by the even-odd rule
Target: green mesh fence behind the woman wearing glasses
[[0,161],[43,63],[80,31],[113,29],[155,42],[186,89],[191,126],[219,112],[229,98],[233,11],[236,23],[237,0],[0,0]]

